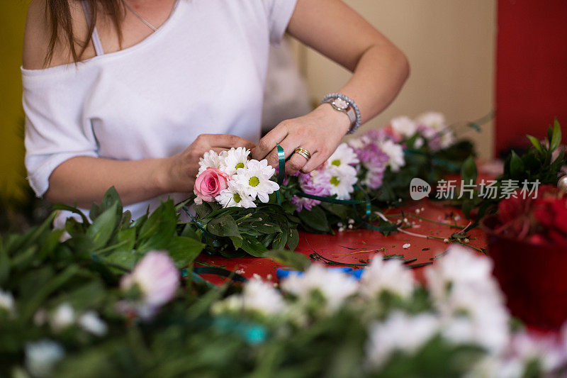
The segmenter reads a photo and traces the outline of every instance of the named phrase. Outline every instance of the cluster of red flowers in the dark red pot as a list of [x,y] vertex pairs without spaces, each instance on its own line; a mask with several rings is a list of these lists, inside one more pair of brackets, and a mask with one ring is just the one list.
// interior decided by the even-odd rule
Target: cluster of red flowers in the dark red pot
[[536,244],[567,243],[567,199],[551,185],[525,198],[516,193],[500,201],[498,220],[498,235]]

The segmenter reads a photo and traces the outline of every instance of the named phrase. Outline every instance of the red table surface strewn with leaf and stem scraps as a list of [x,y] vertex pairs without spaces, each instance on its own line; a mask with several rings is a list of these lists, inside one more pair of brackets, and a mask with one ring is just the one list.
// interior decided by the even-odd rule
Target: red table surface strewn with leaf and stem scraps
[[[405,213],[405,218],[408,218],[408,221],[415,222],[415,226],[407,230],[420,235],[449,238],[452,233],[459,231],[459,228],[451,228],[451,225],[457,224],[459,226],[466,226],[469,222],[460,210],[444,206],[444,204],[440,202],[430,201],[428,199],[411,201],[410,204],[403,208],[389,211],[387,216],[400,214],[401,211]],[[422,218],[427,218],[430,221],[444,224],[421,220],[410,214],[415,214]],[[399,220],[400,217],[393,219]],[[296,248],[296,252],[309,256],[313,253],[313,250],[315,250],[315,252],[318,252],[327,259],[347,263],[359,263],[360,260],[372,260],[377,255],[395,254],[404,255],[405,259],[416,258],[417,260],[411,262],[411,264],[417,264],[420,262],[431,262],[432,260],[430,260],[430,258],[439,255],[449,248],[449,244],[444,243],[443,240],[420,238],[400,232],[392,233],[388,236],[366,228],[356,230],[346,229],[341,232],[335,230],[335,232],[335,235],[330,235],[300,231],[299,244]],[[471,237],[469,241],[470,245],[476,248],[486,247],[486,238],[482,230],[474,228],[468,235]],[[408,248],[403,248],[404,245]],[[473,248],[468,249],[471,250],[471,253],[481,254],[481,252],[473,250]],[[264,280],[272,280],[274,282],[277,281],[276,269],[282,266],[272,260],[257,257],[230,259],[203,254],[198,257],[197,261],[239,271],[239,273],[247,278],[259,276]],[[418,267],[413,270],[415,277],[422,281],[424,267]],[[257,276],[255,274],[257,274]],[[203,275],[203,277],[215,284],[222,282],[221,279],[211,276],[210,274]]]

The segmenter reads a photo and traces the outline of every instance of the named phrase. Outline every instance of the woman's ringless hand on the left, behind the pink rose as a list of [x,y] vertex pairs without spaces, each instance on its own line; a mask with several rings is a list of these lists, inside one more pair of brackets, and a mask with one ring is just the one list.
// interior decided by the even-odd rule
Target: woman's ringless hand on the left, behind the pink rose
[[188,148],[166,159],[167,169],[164,169],[164,187],[166,192],[185,193],[193,191],[193,184],[199,170],[199,158],[205,152],[213,150],[217,153],[230,148],[244,147],[252,149],[254,143],[228,134],[201,134]]

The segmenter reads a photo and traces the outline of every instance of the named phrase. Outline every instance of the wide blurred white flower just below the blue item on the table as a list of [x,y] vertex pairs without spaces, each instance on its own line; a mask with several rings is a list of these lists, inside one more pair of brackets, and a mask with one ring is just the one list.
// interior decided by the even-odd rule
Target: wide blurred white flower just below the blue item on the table
[[313,264],[303,274],[293,274],[283,280],[281,288],[303,301],[310,299],[313,291],[319,291],[325,298],[327,310],[335,311],[344,299],[357,292],[358,282],[343,272]]

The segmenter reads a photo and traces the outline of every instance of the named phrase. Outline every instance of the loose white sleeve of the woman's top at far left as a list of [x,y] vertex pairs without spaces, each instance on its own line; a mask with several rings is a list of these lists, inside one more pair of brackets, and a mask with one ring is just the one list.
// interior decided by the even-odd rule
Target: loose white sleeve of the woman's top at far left
[[33,191],[43,196],[50,175],[62,162],[76,156],[97,156],[90,121],[82,116],[88,84],[79,78],[62,79],[28,70],[22,70],[22,79],[26,169]]

